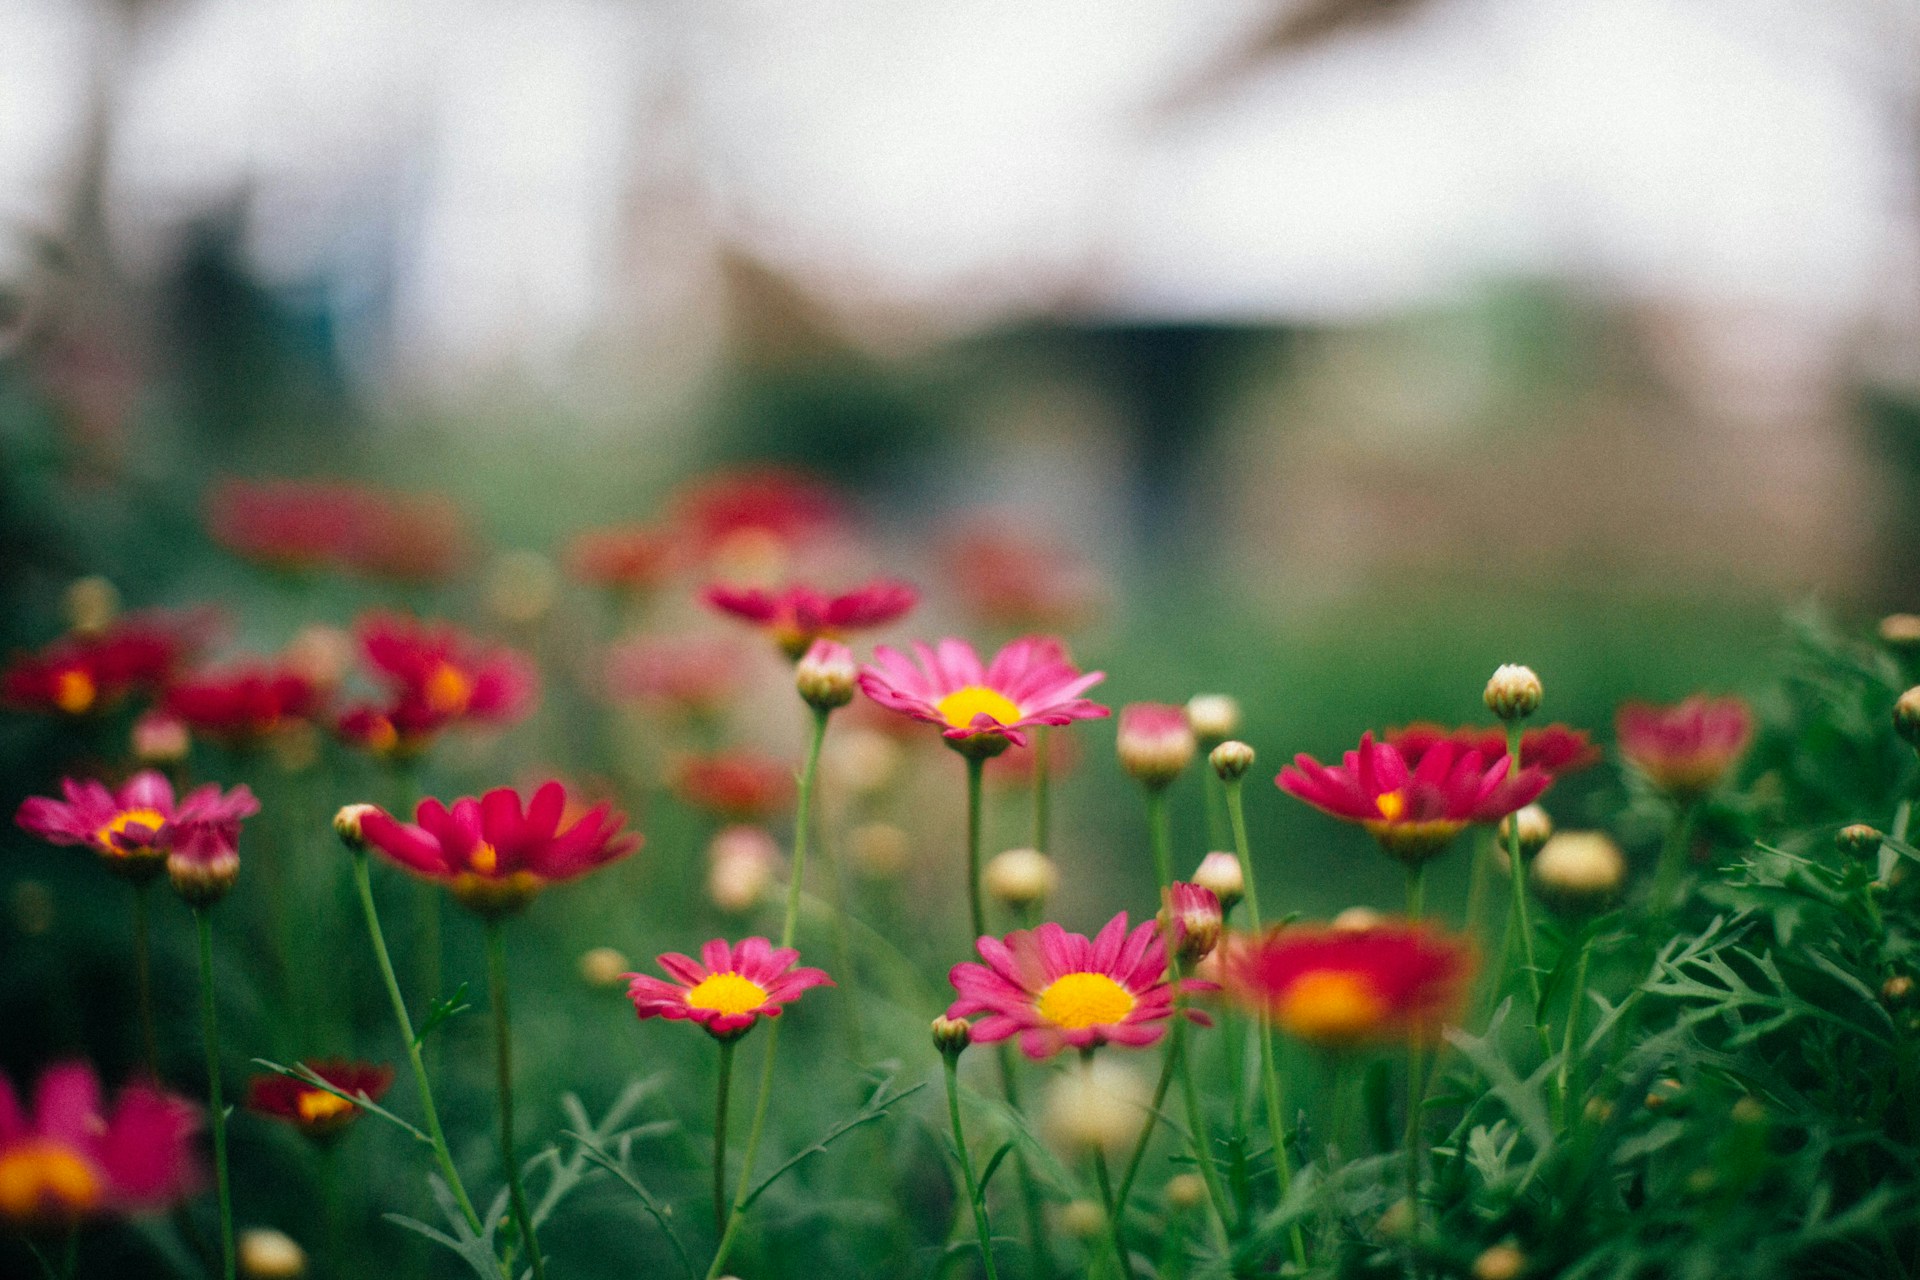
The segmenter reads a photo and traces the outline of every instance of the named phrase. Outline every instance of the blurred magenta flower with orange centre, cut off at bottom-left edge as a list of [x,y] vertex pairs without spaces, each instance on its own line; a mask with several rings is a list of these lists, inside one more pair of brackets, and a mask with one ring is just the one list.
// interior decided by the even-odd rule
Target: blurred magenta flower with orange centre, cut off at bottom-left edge
[[192,1103],[129,1084],[111,1111],[84,1063],[48,1067],[21,1111],[0,1079],[0,1219],[25,1230],[71,1230],[108,1215],[169,1209],[200,1182]]

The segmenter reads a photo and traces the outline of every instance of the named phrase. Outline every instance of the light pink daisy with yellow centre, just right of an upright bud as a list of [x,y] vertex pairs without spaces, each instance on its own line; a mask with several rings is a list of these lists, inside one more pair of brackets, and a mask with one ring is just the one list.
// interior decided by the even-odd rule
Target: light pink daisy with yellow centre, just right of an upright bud
[[920,666],[881,645],[874,666],[860,670],[860,689],[887,710],[941,725],[947,743],[968,754],[995,756],[1008,743],[1025,747],[1021,729],[1096,720],[1112,712],[1081,695],[1106,679],[1068,662],[1060,641],[1023,635],[981,666],[973,647],[943,639],[914,645]]

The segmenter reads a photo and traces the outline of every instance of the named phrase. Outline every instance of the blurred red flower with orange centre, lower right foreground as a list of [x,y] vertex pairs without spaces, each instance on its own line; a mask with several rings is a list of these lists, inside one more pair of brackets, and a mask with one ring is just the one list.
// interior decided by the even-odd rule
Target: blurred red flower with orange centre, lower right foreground
[[1473,948],[1436,929],[1277,927],[1231,935],[1227,994],[1311,1044],[1430,1038],[1473,977]]

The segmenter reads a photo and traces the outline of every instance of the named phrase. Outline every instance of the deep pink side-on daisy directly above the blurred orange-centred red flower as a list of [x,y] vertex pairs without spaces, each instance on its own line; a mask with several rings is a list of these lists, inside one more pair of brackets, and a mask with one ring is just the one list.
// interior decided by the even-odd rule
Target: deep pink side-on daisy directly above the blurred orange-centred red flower
[[1469,823],[1500,821],[1532,804],[1553,779],[1538,768],[1507,777],[1505,756],[1488,766],[1480,752],[1453,743],[1436,743],[1413,768],[1398,747],[1365,733],[1359,750],[1346,752],[1336,768],[1300,754],[1273,781],[1334,818],[1357,821],[1394,858],[1419,864]]

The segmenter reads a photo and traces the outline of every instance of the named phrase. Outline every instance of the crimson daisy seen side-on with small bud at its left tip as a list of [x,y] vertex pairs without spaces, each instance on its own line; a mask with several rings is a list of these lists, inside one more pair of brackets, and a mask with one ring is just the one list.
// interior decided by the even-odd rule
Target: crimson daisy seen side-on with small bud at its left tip
[[465,796],[449,810],[420,800],[403,823],[382,810],[361,818],[369,848],[415,875],[445,885],[461,906],[480,915],[518,912],[549,883],[570,881],[639,848],[637,835],[620,835],[626,814],[595,804],[561,827],[566,789],[545,783],[520,806],[511,787],[480,798]]

